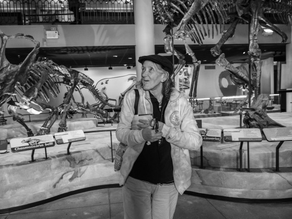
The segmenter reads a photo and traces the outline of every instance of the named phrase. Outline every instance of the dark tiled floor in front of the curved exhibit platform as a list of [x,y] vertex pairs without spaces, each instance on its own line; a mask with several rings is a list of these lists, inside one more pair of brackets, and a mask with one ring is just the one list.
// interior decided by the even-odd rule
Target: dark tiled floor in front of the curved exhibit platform
[[[123,219],[122,189],[102,189],[0,214],[0,219]],[[288,219],[292,203],[251,204],[180,195],[174,219]],[[137,218],[138,219],[138,218]]]

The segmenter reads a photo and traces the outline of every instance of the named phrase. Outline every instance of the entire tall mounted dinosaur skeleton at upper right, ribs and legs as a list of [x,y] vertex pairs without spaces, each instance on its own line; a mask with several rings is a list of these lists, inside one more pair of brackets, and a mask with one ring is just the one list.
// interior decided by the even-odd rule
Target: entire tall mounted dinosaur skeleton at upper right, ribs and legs
[[[283,31],[276,27],[265,14],[272,15],[273,19],[284,24],[291,24],[292,22],[292,3],[290,0],[169,0],[167,4],[163,5],[159,0],[152,0],[154,5],[154,15],[160,21],[160,23],[167,25],[164,32],[166,32],[168,43],[165,43],[166,52],[172,52],[170,39],[180,39],[185,41],[188,35],[194,43],[202,44],[204,36],[209,34],[209,23],[212,27],[212,36],[214,33],[215,26],[217,30],[217,23],[225,24],[226,21],[233,20],[227,31],[221,40],[211,49],[213,56],[220,55],[216,60],[216,63],[220,66],[225,67],[231,72],[237,79],[244,81],[246,84],[249,83],[248,78],[242,71],[233,67],[225,58],[224,54],[221,54],[221,46],[233,36],[236,25],[240,19],[249,21],[250,20],[250,33],[249,33],[249,51],[250,66],[251,66],[251,86],[254,90],[255,100],[260,94],[260,79],[261,79],[261,50],[258,45],[257,35],[261,26],[266,26],[273,31],[277,32],[282,37],[282,43],[286,42],[287,36]],[[231,10],[236,8],[237,14],[232,14]],[[216,16],[214,16],[216,15]],[[260,23],[260,20],[262,23]],[[172,27],[176,26],[175,32],[170,35]],[[206,26],[206,29],[205,29]],[[186,44],[186,43],[185,43]],[[177,56],[177,53],[173,52]],[[193,60],[195,56],[190,53]],[[180,59],[184,56],[178,56]],[[178,66],[183,61],[179,60]],[[199,63],[198,63],[199,65]],[[198,71],[195,71],[193,77],[198,75]],[[193,78],[194,79],[194,78]],[[195,82],[196,81],[196,82]],[[192,80],[192,83],[197,83],[197,80]],[[193,87],[193,85],[191,86]],[[194,85],[196,89],[196,84]],[[192,92],[192,89],[191,89]],[[191,97],[191,92],[189,96]],[[193,97],[196,97],[195,91]],[[261,96],[263,98],[263,95]],[[194,102],[190,98],[191,102]],[[260,100],[259,100],[260,101]],[[260,121],[260,120],[259,120]]]

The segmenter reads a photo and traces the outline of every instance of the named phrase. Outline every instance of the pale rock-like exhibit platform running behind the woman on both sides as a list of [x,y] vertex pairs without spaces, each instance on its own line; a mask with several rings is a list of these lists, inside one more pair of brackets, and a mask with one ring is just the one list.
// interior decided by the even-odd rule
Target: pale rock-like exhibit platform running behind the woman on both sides
[[[291,113],[269,114],[274,121],[292,127]],[[239,116],[200,118],[203,128],[239,128]],[[87,127],[81,119],[76,129]],[[118,146],[117,124],[98,124],[83,129],[86,140],[67,143],[45,150],[0,154],[0,212],[8,212],[48,202],[92,188],[117,187],[120,174],[114,171],[112,150]],[[5,128],[5,126],[1,126]],[[91,132],[98,131],[98,132]],[[89,133],[88,133],[89,132]],[[112,142],[111,142],[112,139]],[[240,142],[203,142],[203,153],[191,151],[192,185],[187,194],[217,199],[249,202],[292,200],[292,141],[279,150],[280,171],[275,171],[278,142],[250,142],[250,171],[246,171],[246,143],[243,143],[243,171],[239,171]],[[203,167],[201,168],[201,158]]]

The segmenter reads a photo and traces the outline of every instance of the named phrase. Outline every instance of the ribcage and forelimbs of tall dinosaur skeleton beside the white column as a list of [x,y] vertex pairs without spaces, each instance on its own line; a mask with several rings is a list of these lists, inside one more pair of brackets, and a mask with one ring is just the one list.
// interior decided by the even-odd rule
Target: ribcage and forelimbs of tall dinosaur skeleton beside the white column
[[[178,58],[174,76],[185,65],[185,55],[175,49],[173,51],[173,39],[184,41],[186,53],[192,57],[194,69],[189,99],[192,106],[194,106],[197,104],[197,82],[201,61],[197,60],[195,53],[186,43],[186,36],[188,35],[194,43],[198,43],[199,45],[203,44],[205,36],[210,37],[208,22],[204,24],[204,21],[211,23],[212,38],[214,36],[214,30],[216,30],[216,34],[222,32],[222,24],[225,24],[228,20],[227,13],[223,9],[227,5],[226,2],[229,1],[169,0],[166,2],[167,5],[163,5],[159,0],[152,0],[154,15],[160,23],[166,25],[163,30],[166,34],[164,38],[165,52],[173,53]],[[217,25],[220,26],[220,31],[218,31]],[[176,27],[176,30],[171,34],[171,30],[174,27]]]

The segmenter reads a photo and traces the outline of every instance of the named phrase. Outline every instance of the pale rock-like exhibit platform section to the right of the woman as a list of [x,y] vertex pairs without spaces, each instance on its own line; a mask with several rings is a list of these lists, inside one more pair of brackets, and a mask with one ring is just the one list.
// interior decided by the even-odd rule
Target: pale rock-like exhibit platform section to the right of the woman
[[[291,113],[272,113],[274,121],[292,127]],[[203,128],[239,128],[239,116],[202,118]],[[223,139],[223,138],[222,138]],[[276,172],[278,141],[249,142],[247,171],[247,143],[243,143],[243,171],[239,171],[240,142],[204,141],[203,156],[191,151],[192,185],[188,191],[196,195],[225,200],[273,202],[292,199],[292,147],[285,141],[279,151],[280,171]],[[203,159],[203,168],[201,167]]]

